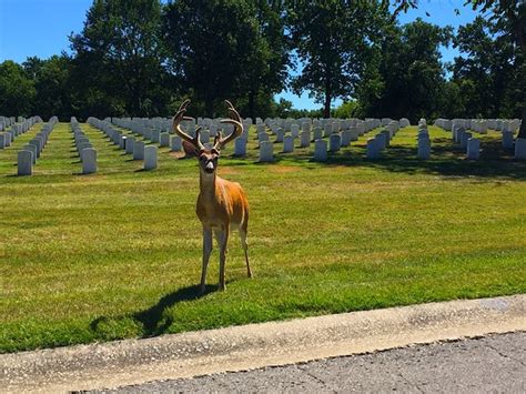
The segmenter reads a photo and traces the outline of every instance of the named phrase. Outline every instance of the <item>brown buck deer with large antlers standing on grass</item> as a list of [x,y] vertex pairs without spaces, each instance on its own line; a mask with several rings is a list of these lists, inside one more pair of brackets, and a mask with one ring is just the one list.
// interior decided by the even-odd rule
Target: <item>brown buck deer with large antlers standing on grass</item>
[[186,134],[180,125],[182,120],[192,120],[185,117],[190,100],[185,100],[173,118],[173,130],[175,133],[192,144],[199,160],[200,169],[200,193],[198,196],[196,213],[203,225],[203,266],[201,271],[201,293],[205,291],[206,267],[212,252],[212,231],[220,247],[220,290],[225,290],[224,265],[226,260],[226,245],[231,229],[240,231],[241,245],[245,253],[246,273],[252,277],[249,264],[249,245],[246,244],[246,231],[249,225],[249,200],[246,194],[236,182],[226,181],[218,176],[218,160],[221,149],[230,141],[235,140],[243,132],[241,117],[232,103],[225,100],[230,118],[223,119],[222,123],[231,123],[234,131],[226,138],[220,132],[215,137],[212,148],[205,148],[200,141],[201,128],[195,130],[195,137]]

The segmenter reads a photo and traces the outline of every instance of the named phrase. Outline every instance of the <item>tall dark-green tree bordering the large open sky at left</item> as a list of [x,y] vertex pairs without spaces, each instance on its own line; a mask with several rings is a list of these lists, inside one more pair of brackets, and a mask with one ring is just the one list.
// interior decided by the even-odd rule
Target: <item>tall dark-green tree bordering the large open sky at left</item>
[[160,29],[159,0],[93,1],[82,32],[70,37],[83,107],[135,117],[165,111],[170,85]]

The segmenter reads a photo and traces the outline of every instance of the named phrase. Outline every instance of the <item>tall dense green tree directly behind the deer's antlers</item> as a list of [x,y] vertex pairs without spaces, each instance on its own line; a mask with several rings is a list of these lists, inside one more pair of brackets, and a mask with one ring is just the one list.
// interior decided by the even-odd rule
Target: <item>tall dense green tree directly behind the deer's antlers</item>
[[259,100],[270,101],[282,89],[287,50],[281,17],[279,1],[179,0],[166,6],[171,70],[183,90],[204,103],[206,115],[234,98],[255,115]]

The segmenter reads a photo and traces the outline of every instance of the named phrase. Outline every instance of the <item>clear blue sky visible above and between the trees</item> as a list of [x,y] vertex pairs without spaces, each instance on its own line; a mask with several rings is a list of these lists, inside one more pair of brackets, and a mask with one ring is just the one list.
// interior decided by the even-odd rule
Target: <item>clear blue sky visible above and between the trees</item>
[[[402,13],[401,23],[422,18],[424,21],[444,27],[458,28],[469,23],[476,12],[464,7],[465,0],[419,0],[418,9]],[[0,62],[23,62],[28,57],[47,59],[62,51],[69,52],[68,36],[82,30],[85,12],[92,0],[0,0]],[[455,14],[458,9],[461,14]],[[426,12],[429,14],[427,16]],[[442,48],[444,61],[452,61],[458,52]],[[297,109],[317,109],[321,105],[308,98],[292,92],[282,92],[276,100],[285,98]],[[338,105],[341,100],[333,102]]]

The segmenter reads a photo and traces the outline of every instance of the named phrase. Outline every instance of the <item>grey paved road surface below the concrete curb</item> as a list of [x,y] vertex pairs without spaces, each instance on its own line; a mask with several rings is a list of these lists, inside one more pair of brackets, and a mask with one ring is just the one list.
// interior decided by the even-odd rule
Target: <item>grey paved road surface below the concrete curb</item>
[[526,333],[523,332],[152,382],[117,392],[525,393],[525,382]]

